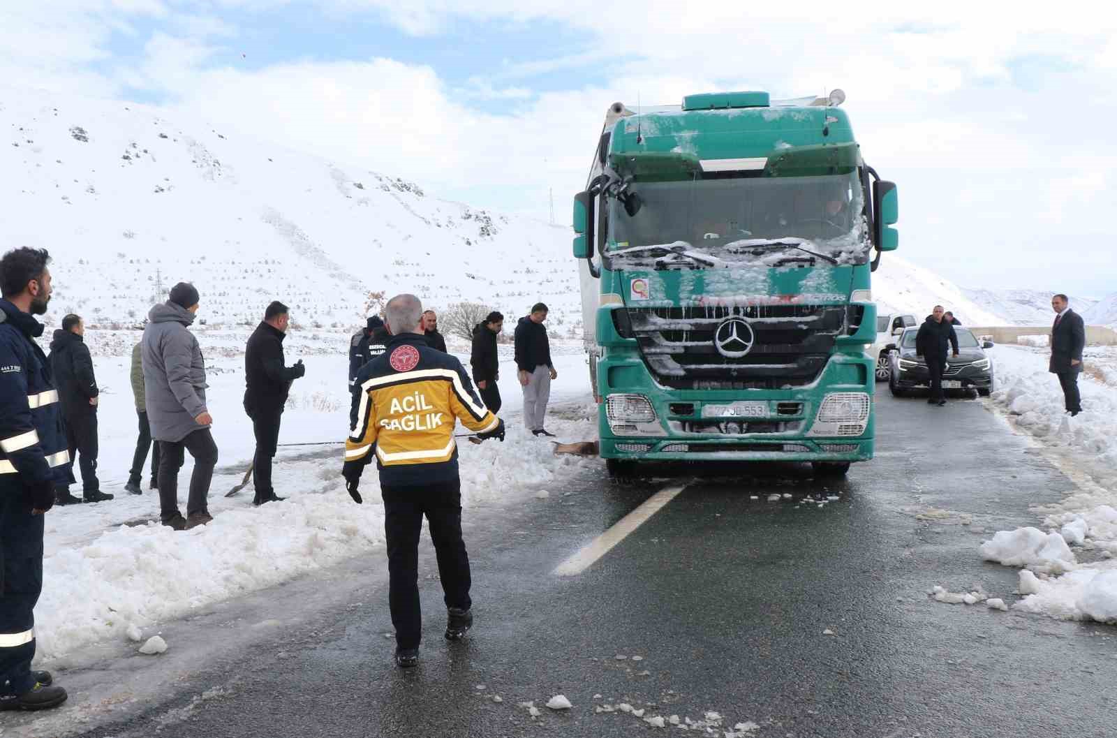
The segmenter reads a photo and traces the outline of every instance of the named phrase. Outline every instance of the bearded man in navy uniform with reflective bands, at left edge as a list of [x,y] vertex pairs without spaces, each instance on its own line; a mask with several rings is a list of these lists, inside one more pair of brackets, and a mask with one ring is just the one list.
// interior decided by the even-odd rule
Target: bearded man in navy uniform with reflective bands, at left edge
[[0,710],[66,701],[50,672],[31,671],[35,604],[42,591],[42,516],[55,486],[71,480],[66,431],[50,364],[35,338],[47,312],[46,249],[0,259]]

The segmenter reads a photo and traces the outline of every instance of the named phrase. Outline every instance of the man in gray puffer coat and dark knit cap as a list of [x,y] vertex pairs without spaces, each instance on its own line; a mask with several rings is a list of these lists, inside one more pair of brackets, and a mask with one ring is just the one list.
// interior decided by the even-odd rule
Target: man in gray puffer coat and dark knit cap
[[[143,332],[144,399],[151,437],[159,443],[159,501],[163,525],[175,530],[206,525],[207,497],[217,443],[206,408],[206,362],[201,347],[188,326],[198,313],[198,290],[180,281],[171,288],[171,299],[151,308]],[[190,477],[187,517],[179,511],[179,469],[184,451],[194,458]]]

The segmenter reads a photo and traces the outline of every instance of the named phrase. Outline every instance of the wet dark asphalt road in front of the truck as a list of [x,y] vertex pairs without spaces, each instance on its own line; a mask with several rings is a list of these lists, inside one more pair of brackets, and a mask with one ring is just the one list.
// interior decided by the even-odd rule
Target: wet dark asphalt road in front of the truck
[[[464,643],[441,638],[424,535],[414,670],[392,663],[379,553],[168,626],[166,656],[190,655],[161,672],[106,654],[61,674],[68,709],[96,705],[84,719],[101,727],[83,735],[114,738],[603,737],[655,734],[645,719],[672,715],[719,737],[750,721],[741,735],[1115,735],[1114,629],[927,596],[980,586],[1011,604],[1015,571],[977,546],[1035,525],[1028,506],[1071,482],[981,402],[939,409],[887,390],[877,402],[877,458],[844,480],[796,464],[659,468],[623,485],[585,473],[565,496],[469,511],[477,620]],[[685,490],[585,572],[553,574],[675,483]],[[558,693],[573,709],[544,707]]]

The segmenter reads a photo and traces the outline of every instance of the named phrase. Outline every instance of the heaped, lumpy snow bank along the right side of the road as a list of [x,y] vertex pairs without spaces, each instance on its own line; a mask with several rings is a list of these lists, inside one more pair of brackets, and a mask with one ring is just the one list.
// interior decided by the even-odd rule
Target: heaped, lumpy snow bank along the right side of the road
[[992,355],[992,402],[1037,439],[1075,487],[1059,502],[1035,508],[1040,527],[999,531],[981,555],[1025,567],[1014,610],[1117,623],[1117,348],[1087,347],[1079,381],[1083,412],[1075,418],[1048,372],[1049,349],[997,346]]

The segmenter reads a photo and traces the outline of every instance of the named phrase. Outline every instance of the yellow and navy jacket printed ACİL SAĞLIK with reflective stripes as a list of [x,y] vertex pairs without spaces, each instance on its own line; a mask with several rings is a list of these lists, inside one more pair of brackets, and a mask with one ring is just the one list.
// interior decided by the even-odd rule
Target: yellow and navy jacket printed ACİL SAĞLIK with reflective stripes
[[419,334],[393,336],[388,351],[362,367],[356,385],[345,460],[375,452],[382,485],[456,478],[456,422],[481,433],[497,426],[461,362],[431,348]]

